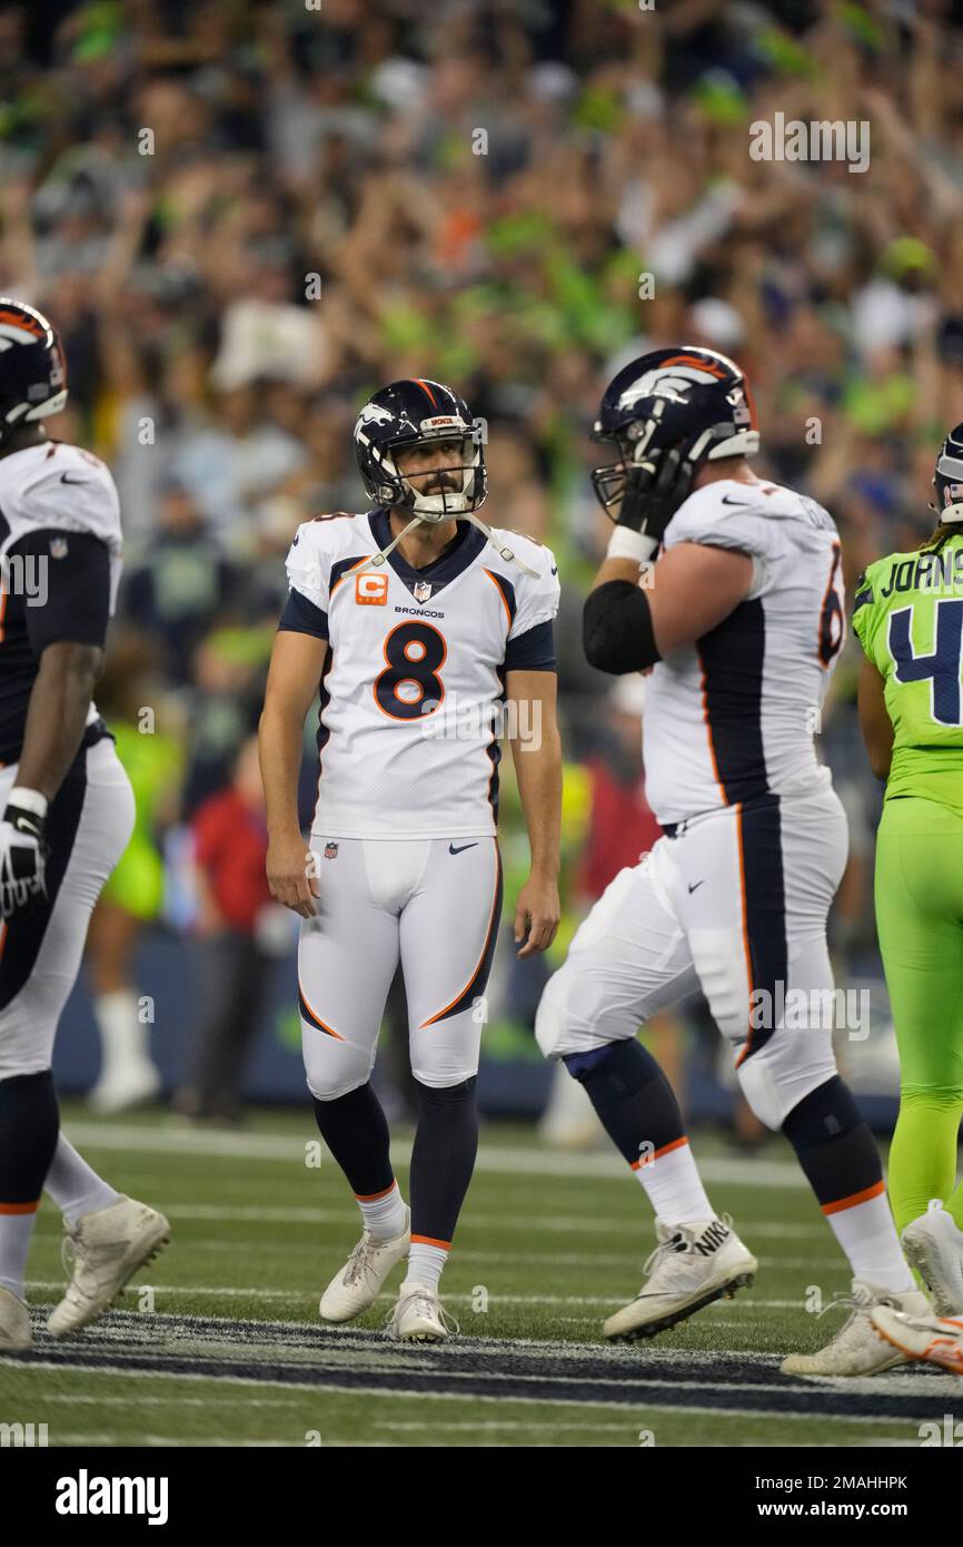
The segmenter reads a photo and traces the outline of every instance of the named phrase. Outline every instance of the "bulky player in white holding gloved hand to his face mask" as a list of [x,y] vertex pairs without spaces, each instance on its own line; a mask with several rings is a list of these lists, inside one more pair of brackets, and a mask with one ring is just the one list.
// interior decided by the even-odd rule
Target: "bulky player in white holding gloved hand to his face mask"
[[536,1018],[543,1052],[584,1084],[655,1210],[648,1278],[604,1332],[651,1337],[756,1273],[635,1040],[640,1023],[700,987],[747,1101],[796,1149],[853,1272],[844,1327],[782,1368],[873,1374],[901,1360],[867,1312],[926,1301],[832,1044],[825,920],[847,826],[813,724],[844,634],[836,528],[815,501],[751,472],[748,387],[711,350],[655,350],[628,365],[603,396],[595,438],[618,452],[594,475],[617,526],[586,603],[586,653],[606,671],[651,670],[646,794],[665,829],[600,897]]

